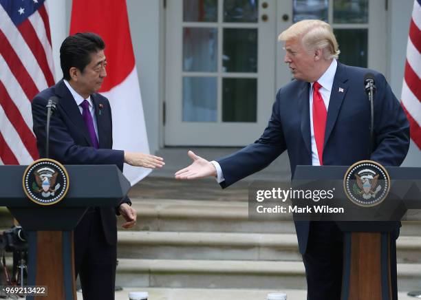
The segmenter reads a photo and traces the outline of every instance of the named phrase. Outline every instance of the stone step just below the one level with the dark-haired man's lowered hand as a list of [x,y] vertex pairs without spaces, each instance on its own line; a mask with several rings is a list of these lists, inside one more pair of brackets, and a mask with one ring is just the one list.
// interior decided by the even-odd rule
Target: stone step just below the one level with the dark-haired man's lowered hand
[[[398,263],[421,264],[421,237],[401,236]],[[118,257],[301,261],[296,235],[119,231]]]

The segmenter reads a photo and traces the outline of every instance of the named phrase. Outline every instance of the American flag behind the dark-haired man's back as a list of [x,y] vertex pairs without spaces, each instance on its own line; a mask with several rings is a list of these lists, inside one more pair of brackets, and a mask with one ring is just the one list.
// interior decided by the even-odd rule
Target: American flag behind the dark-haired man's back
[[0,164],[39,158],[31,100],[54,85],[45,0],[0,0]]

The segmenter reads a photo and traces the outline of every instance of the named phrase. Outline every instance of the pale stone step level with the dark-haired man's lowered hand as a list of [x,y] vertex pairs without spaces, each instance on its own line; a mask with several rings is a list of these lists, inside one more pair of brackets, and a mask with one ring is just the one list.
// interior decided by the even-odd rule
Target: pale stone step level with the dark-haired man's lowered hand
[[[132,198],[136,231],[295,233],[292,220],[250,220],[247,202]],[[119,218],[119,224],[122,219]],[[402,221],[400,235],[419,236],[420,215]]]

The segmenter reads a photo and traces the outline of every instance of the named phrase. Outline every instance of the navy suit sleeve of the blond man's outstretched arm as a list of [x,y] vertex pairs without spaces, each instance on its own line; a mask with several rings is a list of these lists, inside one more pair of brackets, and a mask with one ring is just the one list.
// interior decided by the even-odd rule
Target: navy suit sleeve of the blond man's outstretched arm
[[259,140],[226,158],[217,160],[225,178],[225,181],[220,183],[223,189],[266,168],[285,151],[286,144],[279,114],[281,109],[280,94],[281,90],[279,90],[277,100],[272,106],[272,116],[270,116],[268,126]]

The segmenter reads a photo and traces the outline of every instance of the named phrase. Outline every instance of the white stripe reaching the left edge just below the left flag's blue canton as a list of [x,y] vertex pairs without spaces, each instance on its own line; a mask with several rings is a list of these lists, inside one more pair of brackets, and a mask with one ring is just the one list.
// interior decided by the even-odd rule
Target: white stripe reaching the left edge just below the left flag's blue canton
[[[10,42],[9,45],[12,45],[14,53],[20,58],[21,63],[25,66],[28,74],[31,74],[32,79],[36,85],[36,89],[38,91],[42,91],[48,87],[47,81],[45,81],[45,77],[41,68],[39,67],[38,63],[36,63],[36,59],[32,54],[30,48],[23,40],[21,33],[13,24],[12,20],[8,13],[3,9],[3,6],[0,6],[0,30],[3,31],[4,36]],[[1,45],[1,48],[3,45]],[[32,97],[30,97],[32,98]],[[6,138],[6,137],[5,137]]]

